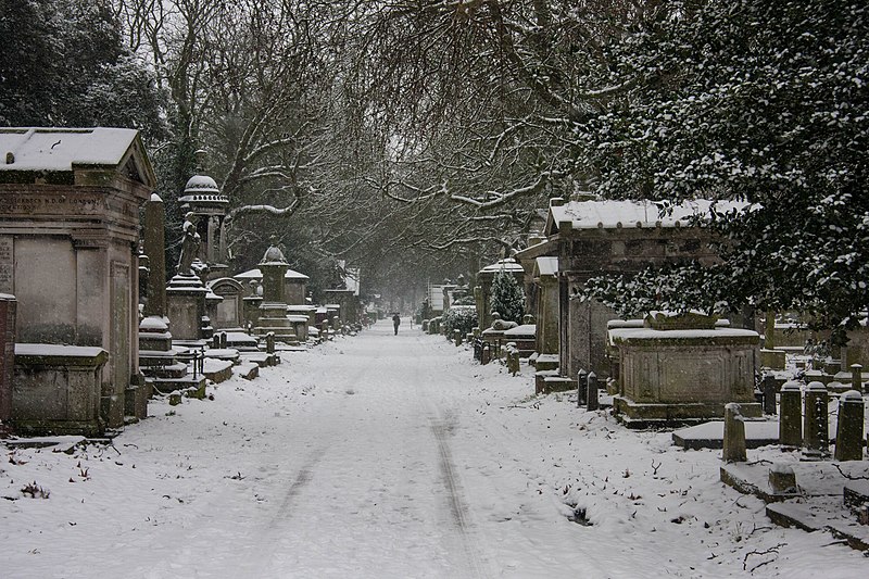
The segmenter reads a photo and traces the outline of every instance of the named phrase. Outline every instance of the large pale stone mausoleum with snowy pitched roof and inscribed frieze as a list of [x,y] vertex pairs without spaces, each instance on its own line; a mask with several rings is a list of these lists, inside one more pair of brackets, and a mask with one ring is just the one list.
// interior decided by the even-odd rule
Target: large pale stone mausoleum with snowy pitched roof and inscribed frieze
[[17,300],[11,420],[96,435],[147,413],[138,366],[139,134],[0,128],[0,292]]

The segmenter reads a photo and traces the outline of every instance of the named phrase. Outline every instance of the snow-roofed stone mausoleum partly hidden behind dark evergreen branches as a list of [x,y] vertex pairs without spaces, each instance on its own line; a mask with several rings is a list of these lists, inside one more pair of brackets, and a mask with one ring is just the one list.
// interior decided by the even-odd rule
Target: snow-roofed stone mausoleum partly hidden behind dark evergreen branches
[[[551,200],[546,241],[520,252],[520,257],[557,257],[558,357],[562,376],[575,379],[582,368],[599,377],[609,374],[607,322],[616,313],[578,297],[585,281],[603,274],[631,274],[648,265],[678,261],[711,264],[710,230],[692,225],[706,214],[709,201],[693,201],[660,215],[658,206],[637,201]],[[721,211],[732,209],[719,202]],[[549,330],[547,330],[549,331]]]

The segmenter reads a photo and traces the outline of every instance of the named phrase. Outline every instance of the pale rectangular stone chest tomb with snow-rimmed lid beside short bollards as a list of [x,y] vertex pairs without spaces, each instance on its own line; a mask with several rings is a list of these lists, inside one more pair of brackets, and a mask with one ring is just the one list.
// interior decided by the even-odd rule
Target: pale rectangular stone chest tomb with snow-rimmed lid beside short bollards
[[760,416],[754,398],[756,331],[716,327],[713,317],[662,312],[644,327],[608,330],[618,351],[619,417],[637,426],[720,418],[738,402],[744,416]]

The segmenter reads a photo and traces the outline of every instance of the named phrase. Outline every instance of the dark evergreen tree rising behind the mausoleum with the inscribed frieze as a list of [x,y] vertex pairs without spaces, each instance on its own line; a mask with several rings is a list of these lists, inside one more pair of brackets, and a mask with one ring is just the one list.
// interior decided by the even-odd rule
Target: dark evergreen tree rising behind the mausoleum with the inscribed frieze
[[164,99],[108,0],[0,0],[0,124],[164,136]]

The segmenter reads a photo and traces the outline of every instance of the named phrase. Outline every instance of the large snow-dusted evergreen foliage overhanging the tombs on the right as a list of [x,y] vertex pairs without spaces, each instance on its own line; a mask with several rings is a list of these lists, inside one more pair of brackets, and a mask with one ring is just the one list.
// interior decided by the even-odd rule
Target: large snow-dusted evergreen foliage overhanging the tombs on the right
[[709,216],[721,264],[593,280],[590,292],[625,307],[747,304],[854,327],[869,306],[869,8],[680,7],[617,45],[602,74],[630,90],[620,109],[577,126],[582,150],[609,198],[754,205]]

